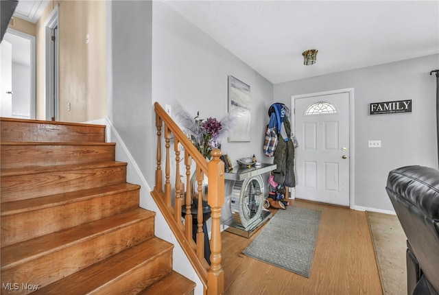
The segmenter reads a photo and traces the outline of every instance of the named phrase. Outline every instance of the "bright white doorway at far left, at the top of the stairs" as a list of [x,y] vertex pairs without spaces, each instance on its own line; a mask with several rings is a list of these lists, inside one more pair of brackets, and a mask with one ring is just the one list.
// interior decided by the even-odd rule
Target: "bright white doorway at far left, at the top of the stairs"
[[[0,46],[4,51],[1,55],[1,116],[35,119],[35,36],[8,28]],[[6,54],[9,51],[6,47],[10,47],[10,54]]]

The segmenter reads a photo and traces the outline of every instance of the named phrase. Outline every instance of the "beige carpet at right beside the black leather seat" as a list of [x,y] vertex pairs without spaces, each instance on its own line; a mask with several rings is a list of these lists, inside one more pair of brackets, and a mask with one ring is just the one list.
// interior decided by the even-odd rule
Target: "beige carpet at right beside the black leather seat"
[[384,295],[407,294],[405,233],[396,215],[366,211]]

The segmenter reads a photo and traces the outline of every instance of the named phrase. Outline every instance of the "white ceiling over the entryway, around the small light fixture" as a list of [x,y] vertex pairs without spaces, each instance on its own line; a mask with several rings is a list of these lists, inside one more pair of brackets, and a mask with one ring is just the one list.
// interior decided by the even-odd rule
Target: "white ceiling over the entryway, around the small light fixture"
[[439,1],[163,2],[273,84],[439,53]]

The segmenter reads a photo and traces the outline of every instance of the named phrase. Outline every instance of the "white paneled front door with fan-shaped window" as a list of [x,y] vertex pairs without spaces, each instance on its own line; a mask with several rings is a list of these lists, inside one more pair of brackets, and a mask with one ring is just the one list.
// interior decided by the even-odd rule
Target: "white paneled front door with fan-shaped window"
[[349,93],[293,101],[296,198],[349,206]]

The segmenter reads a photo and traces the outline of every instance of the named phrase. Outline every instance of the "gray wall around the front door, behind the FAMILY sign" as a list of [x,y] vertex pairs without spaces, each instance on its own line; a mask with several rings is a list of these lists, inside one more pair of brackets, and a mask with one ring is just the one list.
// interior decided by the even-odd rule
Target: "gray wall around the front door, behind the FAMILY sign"
[[[403,60],[353,71],[274,85],[274,101],[291,96],[354,88],[355,206],[394,211],[385,192],[388,173],[405,165],[438,167],[436,77],[439,55]],[[368,115],[371,102],[412,99],[412,113]],[[381,148],[368,148],[369,139]],[[300,143],[299,143],[300,144]]]

